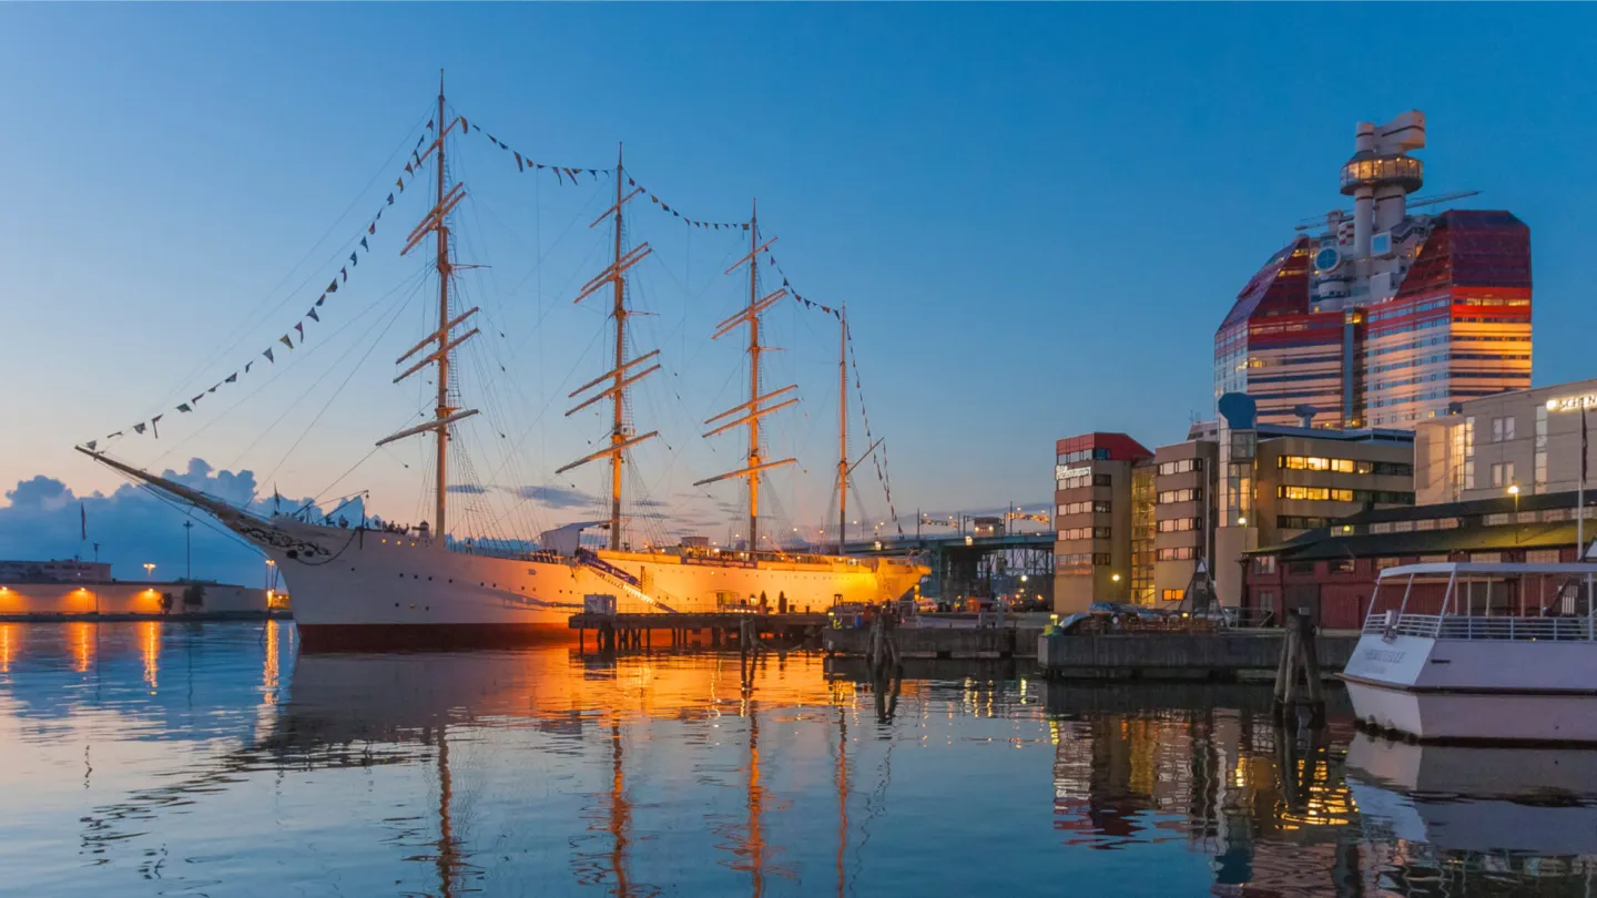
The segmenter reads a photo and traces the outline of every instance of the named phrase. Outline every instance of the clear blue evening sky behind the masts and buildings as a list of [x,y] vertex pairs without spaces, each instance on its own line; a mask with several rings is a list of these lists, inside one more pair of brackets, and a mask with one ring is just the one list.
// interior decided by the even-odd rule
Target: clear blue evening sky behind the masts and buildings
[[[0,6],[0,80],[11,86],[0,296],[5,371],[21,395],[0,483],[43,475],[78,494],[109,492],[117,481],[72,454],[73,443],[203,390],[291,328],[295,304],[315,299],[295,288],[339,257],[382,198],[385,160],[420,134],[439,67],[458,112],[529,155],[602,166],[624,141],[640,181],[704,219],[741,217],[757,195],[794,284],[850,304],[901,513],[1041,502],[1059,436],[1179,439],[1206,407],[1212,332],[1236,291],[1295,222],[1338,205],[1353,125],[1405,109],[1429,117],[1426,192],[1482,190],[1469,205],[1511,209],[1532,227],[1535,380],[1591,375],[1581,265],[1597,83],[1584,61],[1597,50],[1597,13],[1373,10]],[[500,304],[513,336],[535,332],[501,344],[506,358],[522,350],[506,366],[516,383],[498,388],[525,422],[525,409],[564,403],[562,385],[604,368],[577,350],[602,320],[572,310],[565,286],[594,270],[602,240],[581,225],[608,187],[554,197],[489,171],[503,157],[481,147],[468,144],[462,161],[471,222],[485,232],[473,248],[495,265],[474,289]],[[386,236],[420,213],[406,211]],[[585,213],[575,236],[551,236]],[[639,465],[671,470],[648,486],[674,505],[736,455],[730,444],[699,447],[692,419],[717,411],[714,399],[733,404],[723,375],[736,347],[699,344],[739,288],[717,267],[733,246],[687,244],[647,213],[634,217],[634,238],[660,249],[656,270],[640,272],[650,292],[639,294],[660,318],[640,340],[676,344],[664,355],[676,355],[666,377],[677,395],[655,387],[656,398],[640,399],[640,422],[658,412],[650,427],[671,449]],[[519,236],[495,243],[495,230]],[[412,272],[396,251],[374,248],[377,267],[351,297],[372,321]],[[527,262],[545,254],[543,265]],[[423,407],[418,390],[386,387],[383,358],[423,332],[422,302],[393,312],[393,332],[374,334],[378,371],[347,387],[361,398],[340,395],[315,427],[316,387],[337,393],[367,344],[351,337],[353,355],[339,356],[347,368],[316,368],[327,361],[318,356],[299,380],[238,396],[203,433],[208,420],[195,415],[118,452],[179,470],[198,455],[284,494],[319,494]],[[241,324],[257,329],[240,337]],[[795,523],[827,505],[829,328],[797,312],[773,323],[791,350],[773,375],[791,374],[805,395],[776,430],[798,436],[773,446],[805,462],[771,487]],[[553,478],[594,433],[557,412],[530,441],[506,441],[525,483],[501,486],[597,491],[597,470]],[[420,446],[378,454],[339,489],[372,489],[378,511],[420,519]],[[476,473],[490,479],[500,467]],[[880,516],[870,487],[867,508]],[[735,487],[712,495],[684,515],[707,527],[738,499]],[[541,524],[564,519],[543,511]]]

